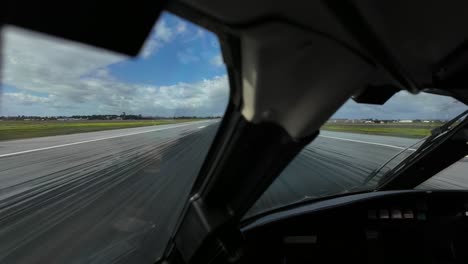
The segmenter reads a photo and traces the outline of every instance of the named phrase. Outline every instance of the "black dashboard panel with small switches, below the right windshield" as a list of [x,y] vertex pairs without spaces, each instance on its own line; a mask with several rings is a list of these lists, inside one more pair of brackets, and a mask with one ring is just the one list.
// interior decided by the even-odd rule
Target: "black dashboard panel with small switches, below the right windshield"
[[348,195],[242,228],[245,263],[468,263],[468,192]]

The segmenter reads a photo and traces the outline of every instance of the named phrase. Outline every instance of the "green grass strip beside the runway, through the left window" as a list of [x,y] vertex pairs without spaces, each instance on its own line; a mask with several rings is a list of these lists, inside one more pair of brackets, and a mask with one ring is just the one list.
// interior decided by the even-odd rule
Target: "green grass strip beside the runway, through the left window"
[[0,141],[110,129],[176,124],[198,119],[111,121],[0,121]]

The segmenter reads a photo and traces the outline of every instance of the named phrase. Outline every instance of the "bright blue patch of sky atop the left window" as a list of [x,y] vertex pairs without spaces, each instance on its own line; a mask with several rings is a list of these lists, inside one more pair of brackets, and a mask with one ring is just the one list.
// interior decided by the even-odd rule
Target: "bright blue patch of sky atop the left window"
[[110,65],[109,69],[125,82],[190,83],[226,74],[222,61],[212,61],[221,58],[220,54],[213,34],[166,13],[138,59]]

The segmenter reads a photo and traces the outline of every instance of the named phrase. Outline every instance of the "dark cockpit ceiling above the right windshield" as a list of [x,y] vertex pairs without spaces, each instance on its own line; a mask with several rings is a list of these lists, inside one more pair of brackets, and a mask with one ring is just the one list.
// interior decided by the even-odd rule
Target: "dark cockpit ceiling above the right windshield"
[[399,78],[419,89],[459,88],[435,81],[461,70],[467,59],[466,1],[307,1],[308,8],[304,1],[180,3],[239,31],[282,23],[324,35],[387,70],[398,67]]

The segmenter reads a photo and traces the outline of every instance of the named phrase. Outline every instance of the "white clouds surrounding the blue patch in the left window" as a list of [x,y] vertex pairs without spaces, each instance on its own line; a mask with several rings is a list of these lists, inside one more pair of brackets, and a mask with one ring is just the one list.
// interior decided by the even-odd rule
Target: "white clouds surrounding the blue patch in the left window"
[[[3,84],[17,88],[0,101],[0,115],[135,113],[221,115],[227,103],[225,75],[169,86],[126,83],[107,65],[125,57],[6,30]],[[188,52],[190,54],[190,52]]]

